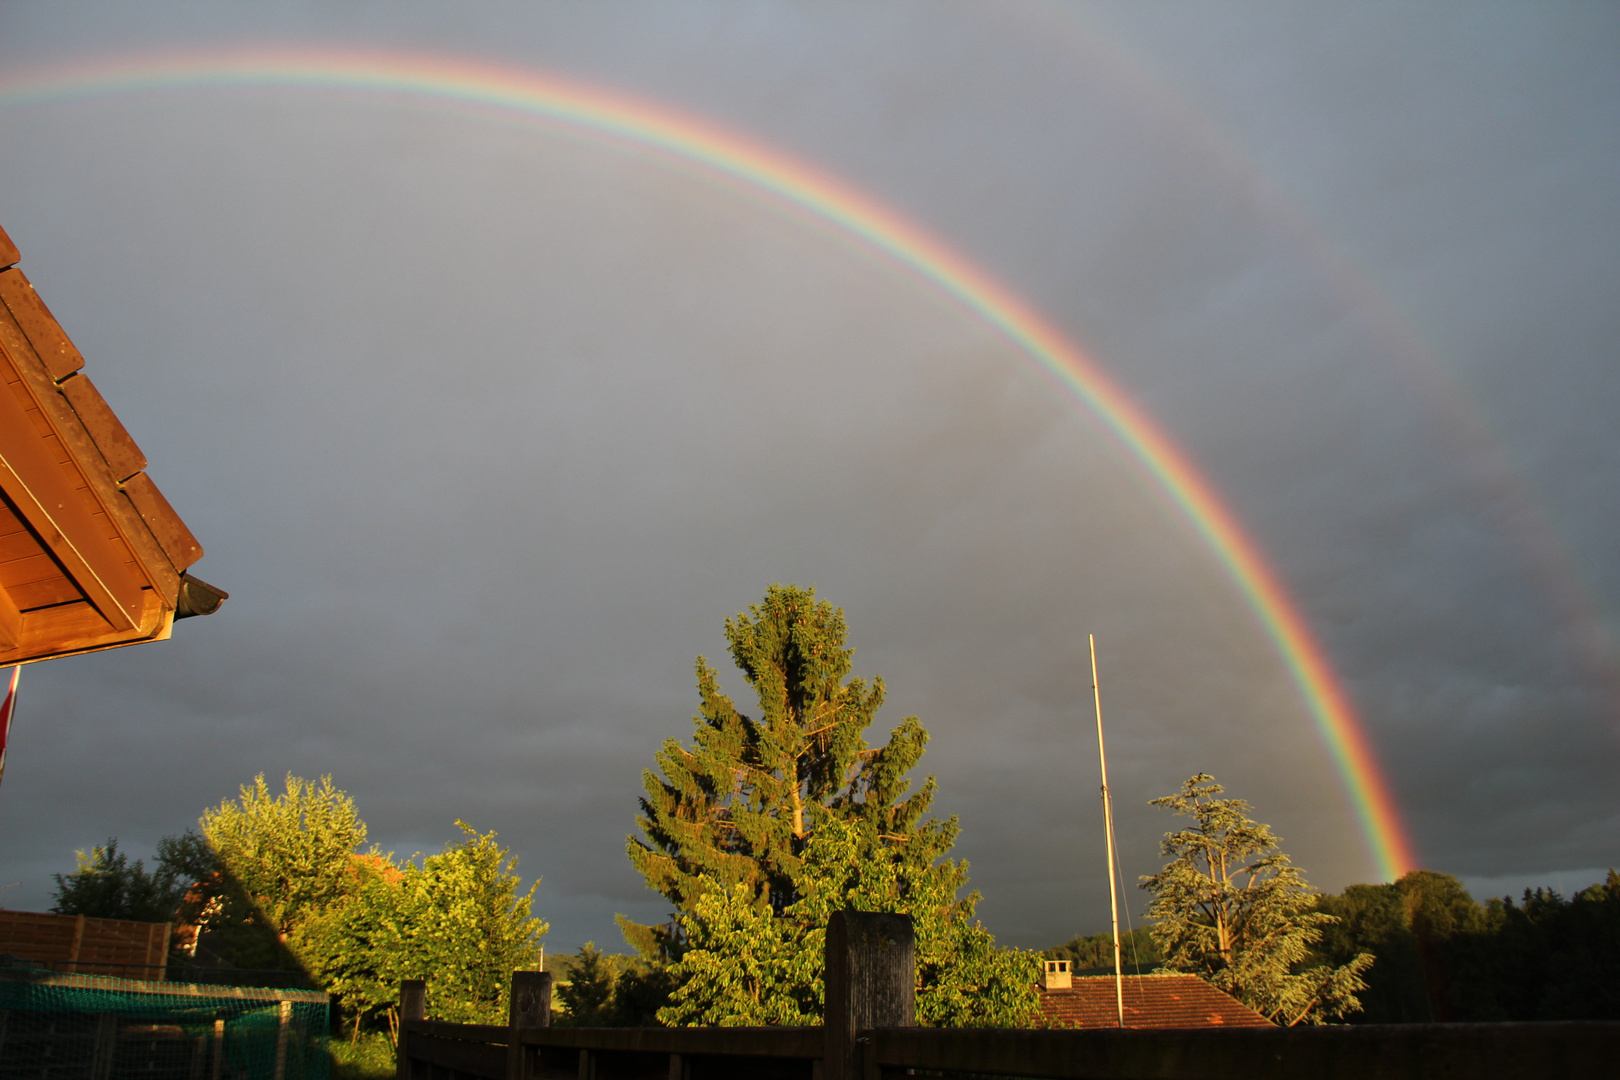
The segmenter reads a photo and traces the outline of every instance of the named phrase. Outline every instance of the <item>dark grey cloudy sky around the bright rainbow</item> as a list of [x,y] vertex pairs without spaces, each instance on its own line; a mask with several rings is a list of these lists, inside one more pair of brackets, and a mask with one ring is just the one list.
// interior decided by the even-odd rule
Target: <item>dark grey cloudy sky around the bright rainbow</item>
[[[888,206],[1085,348],[1325,648],[1426,868],[1620,861],[1620,10],[0,3],[0,83],[240,49],[567,78]],[[690,162],[390,92],[0,92],[0,225],[230,591],[23,675],[0,904],[264,772],[371,837],[499,831],[549,949],[698,654],[771,581],[917,714],[1004,942],[1103,929],[1213,772],[1379,876],[1277,644],[1058,379],[912,269]],[[881,732],[873,732],[881,740]],[[1140,915],[1145,895],[1131,897]]]

